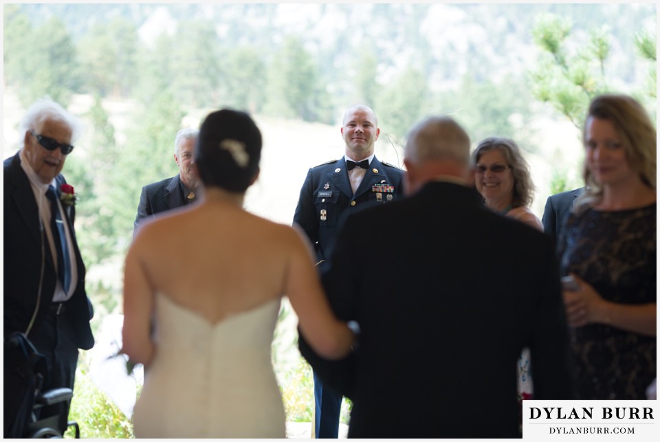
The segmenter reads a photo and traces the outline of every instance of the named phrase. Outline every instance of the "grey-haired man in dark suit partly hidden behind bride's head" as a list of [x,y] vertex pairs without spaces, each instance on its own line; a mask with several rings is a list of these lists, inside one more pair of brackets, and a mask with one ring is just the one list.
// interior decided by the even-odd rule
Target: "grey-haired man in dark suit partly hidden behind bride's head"
[[174,140],[174,160],[179,167],[179,174],[142,188],[133,234],[137,232],[137,225],[146,217],[184,206],[197,199],[195,192],[199,184],[199,175],[193,154],[198,135],[199,130],[192,128],[184,128],[177,132]]

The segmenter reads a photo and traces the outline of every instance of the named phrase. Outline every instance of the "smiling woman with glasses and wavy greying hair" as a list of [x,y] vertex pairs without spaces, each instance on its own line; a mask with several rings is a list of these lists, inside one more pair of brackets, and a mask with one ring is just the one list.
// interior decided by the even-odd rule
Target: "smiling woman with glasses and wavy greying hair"
[[[472,166],[476,190],[489,209],[543,231],[540,219],[529,210],[534,185],[529,175],[529,166],[514,140],[503,137],[482,140],[472,152]],[[521,424],[522,399],[531,399],[532,393],[529,349],[525,347],[518,359]]]

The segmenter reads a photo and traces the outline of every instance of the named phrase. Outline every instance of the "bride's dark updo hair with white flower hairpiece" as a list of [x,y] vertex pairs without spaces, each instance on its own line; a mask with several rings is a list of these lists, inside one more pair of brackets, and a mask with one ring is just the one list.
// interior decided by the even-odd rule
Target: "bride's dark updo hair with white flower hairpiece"
[[199,128],[195,163],[204,186],[243,193],[259,172],[261,131],[250,115],[221,109]]

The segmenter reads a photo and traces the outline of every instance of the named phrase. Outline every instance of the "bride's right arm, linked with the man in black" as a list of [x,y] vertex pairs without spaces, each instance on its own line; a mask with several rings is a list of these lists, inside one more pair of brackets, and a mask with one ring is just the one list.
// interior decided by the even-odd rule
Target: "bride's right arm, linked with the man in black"
[[287,263],[285,294],[298,315],[300,331],[320,355],[338,360],[349,355],[355,340],[346,322],[333,314],[314,268],[314,254],[305,236],[292,234],[292,253]]

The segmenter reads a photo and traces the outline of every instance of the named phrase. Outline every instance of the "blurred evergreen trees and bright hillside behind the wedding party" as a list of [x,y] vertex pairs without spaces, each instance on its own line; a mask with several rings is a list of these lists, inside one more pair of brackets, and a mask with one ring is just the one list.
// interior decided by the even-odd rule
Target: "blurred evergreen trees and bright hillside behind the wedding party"
[[[265,152],[268,182],[254,192],[273,192],[265,212],[283,210],[276,221],[290,222],[315,164],[283,173],[269,162],[311,151],[329,152],[319,162],[340,156],[341,118],[358,102],[377,112],[377,155],[399,166],[408,129],[430,114],[453,115],[473,145],[514,138],[539,188],[540,217],[548,195],[582,185],[580,128],[593,96],[630,93],[656,118],[656,8],[3,4],[3,155],[17,150],[12,131],[37,98],[50,96],[87,123],[65,174],[80,196],[76,231],[102,318],[121,310],[120,272],[142,186],[177,173],[175,133],[208,111],[233,107],[264,122],[276,153]],[[298,141],[304,150],[292,151]]]

